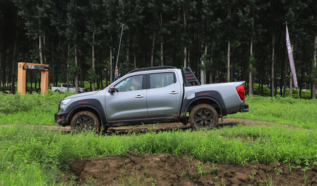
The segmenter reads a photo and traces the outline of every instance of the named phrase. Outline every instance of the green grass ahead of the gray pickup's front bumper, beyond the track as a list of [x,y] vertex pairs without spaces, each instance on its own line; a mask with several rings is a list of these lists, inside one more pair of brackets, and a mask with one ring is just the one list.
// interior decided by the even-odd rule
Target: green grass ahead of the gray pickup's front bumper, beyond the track
[[0,123],[56,125],[54,113],[57,112],[59,100],[70,95],[69,92],[50,90],[45,95],[33,92],[24,96],[0,92]]

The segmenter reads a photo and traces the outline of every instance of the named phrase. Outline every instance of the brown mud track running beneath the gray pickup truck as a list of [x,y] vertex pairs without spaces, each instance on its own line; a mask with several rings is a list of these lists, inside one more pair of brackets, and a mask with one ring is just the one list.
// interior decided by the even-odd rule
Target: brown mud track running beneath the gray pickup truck
[[[243,119],[243,118],[223,118],[223,121],[219,119],[218,128],[224,126],[236,126],[243,123],[244,125],[256,125],[256,126],[263,126],[268,125],[269,123],[275,124],[274,122],[269,121],[261,121],[261,120],[250,120],[250,119]],[[60,127],[60,126],[43,126],[47,130],[51,131],[63,131],[65,133],[70,133],[70,126]],[[282,127],[289,127],[285,126]],[[188,130],[191,129],[189,123],[185,126],[183,123],[163,123],[163,124],[156,124],[156,125],[136,125],[136,126],[128,126],[128,127],[114,127],[109,128],[107,133],[118,133],[118,134],[126,134],[126,133],[142,133],[147,131],[170,131],[174,129],[182,129]]]

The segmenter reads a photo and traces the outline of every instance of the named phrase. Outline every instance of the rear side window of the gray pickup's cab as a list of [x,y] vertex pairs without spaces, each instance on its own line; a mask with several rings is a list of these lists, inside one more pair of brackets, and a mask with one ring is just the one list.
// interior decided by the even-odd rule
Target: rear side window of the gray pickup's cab
[[176,83],[175,73],[150,74],[150,88],[162,88]]

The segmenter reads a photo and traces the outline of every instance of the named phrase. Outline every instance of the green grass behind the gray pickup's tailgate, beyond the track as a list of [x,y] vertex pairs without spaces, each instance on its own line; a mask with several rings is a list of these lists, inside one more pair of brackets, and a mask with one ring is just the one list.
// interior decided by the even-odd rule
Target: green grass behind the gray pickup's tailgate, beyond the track
[[242,117],[275,121],[284,125],[313,129],[317,127],[317,99],[272,98],[260,96],[246,97],[249,112],[228,115],[227,117]]

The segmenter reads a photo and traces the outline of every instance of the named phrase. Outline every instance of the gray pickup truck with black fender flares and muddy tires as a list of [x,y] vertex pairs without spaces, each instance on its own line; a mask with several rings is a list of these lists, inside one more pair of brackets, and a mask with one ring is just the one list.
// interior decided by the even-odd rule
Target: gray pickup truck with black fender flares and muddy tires
[[136,69],[104,90],[61,99],[54,117],[75,132],[158,122],[209,129],[219,116],[249,111],[243,83],[200,85],[190,68]]

